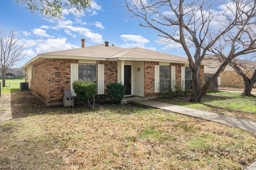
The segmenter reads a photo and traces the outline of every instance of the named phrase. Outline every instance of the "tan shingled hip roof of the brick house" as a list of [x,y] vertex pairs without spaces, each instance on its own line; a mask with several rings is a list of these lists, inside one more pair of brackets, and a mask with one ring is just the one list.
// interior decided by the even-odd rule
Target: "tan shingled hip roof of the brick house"
[[63,51],[54,51],[38,54],[36,57],[24,64],[32,66],[44,59],[86,59],[86,60],[101,60],[101,61],[159,61],[169,63],[184,63],[188,64],[188,59],[176,55],[160,53],[157,51],[134,47],[126,49],[115,47],[114,45],[106,46],[105,44],[83,47],[78,49],[70,49]]

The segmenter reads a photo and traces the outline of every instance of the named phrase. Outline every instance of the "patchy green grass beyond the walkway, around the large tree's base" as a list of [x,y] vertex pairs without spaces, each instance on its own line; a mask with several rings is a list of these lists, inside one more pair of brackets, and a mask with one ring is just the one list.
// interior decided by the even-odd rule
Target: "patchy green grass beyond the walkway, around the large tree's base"
[[212,90],[203,96],[199,104],[190,103],[190,98],[191,96],[158,101],[256,121],[256,97],[240,96],[238,92]]

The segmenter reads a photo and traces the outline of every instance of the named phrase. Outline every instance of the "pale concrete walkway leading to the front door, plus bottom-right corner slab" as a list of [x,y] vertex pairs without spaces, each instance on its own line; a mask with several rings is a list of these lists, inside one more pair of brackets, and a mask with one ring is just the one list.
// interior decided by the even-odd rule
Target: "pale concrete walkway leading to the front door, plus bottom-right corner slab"
[[[158,108],[158,109],[173,111],[175,113],[180,113],[180,114],[184,114],[184,115],[188,115],[188,116],[192,116],[192,117],[197,117],[200,119],[206,119],[209,121],[222,123],[224,125],[229,125],[232,127],[237,127],[240,129],[256,132],[256,122],[255,121],[250,121],[250,120],[232,117],[232,116],[228,116],[228,115],[222,115],[222,114],[218,114],[218,113],[212,113],[209,111],[201,111],[201,110],[197,110],[197,109],[191,109],[188,107],[176,106],[173,104],[166,104],[166,103],[157,102],[157,101],[153,101],[153,100],[147,100],[147,99],[139,98],[139,97],[125,98],[125,100],[129,103],[137,104],[140,106],[154,107],[154,108]],[[253,164],[251,164],[244,170],[256,170],[256,162],[254,162]]]

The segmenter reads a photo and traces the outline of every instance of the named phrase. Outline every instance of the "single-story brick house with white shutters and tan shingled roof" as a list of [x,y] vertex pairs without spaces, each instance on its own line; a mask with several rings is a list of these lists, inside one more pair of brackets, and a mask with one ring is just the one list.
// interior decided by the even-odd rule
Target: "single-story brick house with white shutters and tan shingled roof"
[[[97,83],[96,97],[104,97],[106,85],[123,82],[126,96],[154,98],[159,84],[165,89],[178,86],[190,90],[192,74],[188,59],[141,48],[125,49],[105,44],[38,54],[24,64],[26,82],[31,92],[47,106],[61,105],[64,90],[71,90],[74,80]],[[200,76],[204,82],[204,66]]]

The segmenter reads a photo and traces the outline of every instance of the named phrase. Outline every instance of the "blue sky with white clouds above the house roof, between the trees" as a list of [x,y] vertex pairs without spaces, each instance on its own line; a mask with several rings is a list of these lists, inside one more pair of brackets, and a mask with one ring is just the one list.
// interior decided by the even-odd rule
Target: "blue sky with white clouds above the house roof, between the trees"
[[37,54],[81,47],[109,41],[117,47],[140,47],[186,57],[182,49],[167,49],[168,44],[156,41],[160,38],[154,29],[140,27],[135,18],[128,18],[125,8],[115,7],[117,0],[93,0],[91,8],[81,13],[64,10],[64,18],[47,19],[39,13],[34,16],[25,6],[17,6],[14,0],[0,2],[0,26],[7,33],[13,29],[26,46],[26,58],[20,67]]

